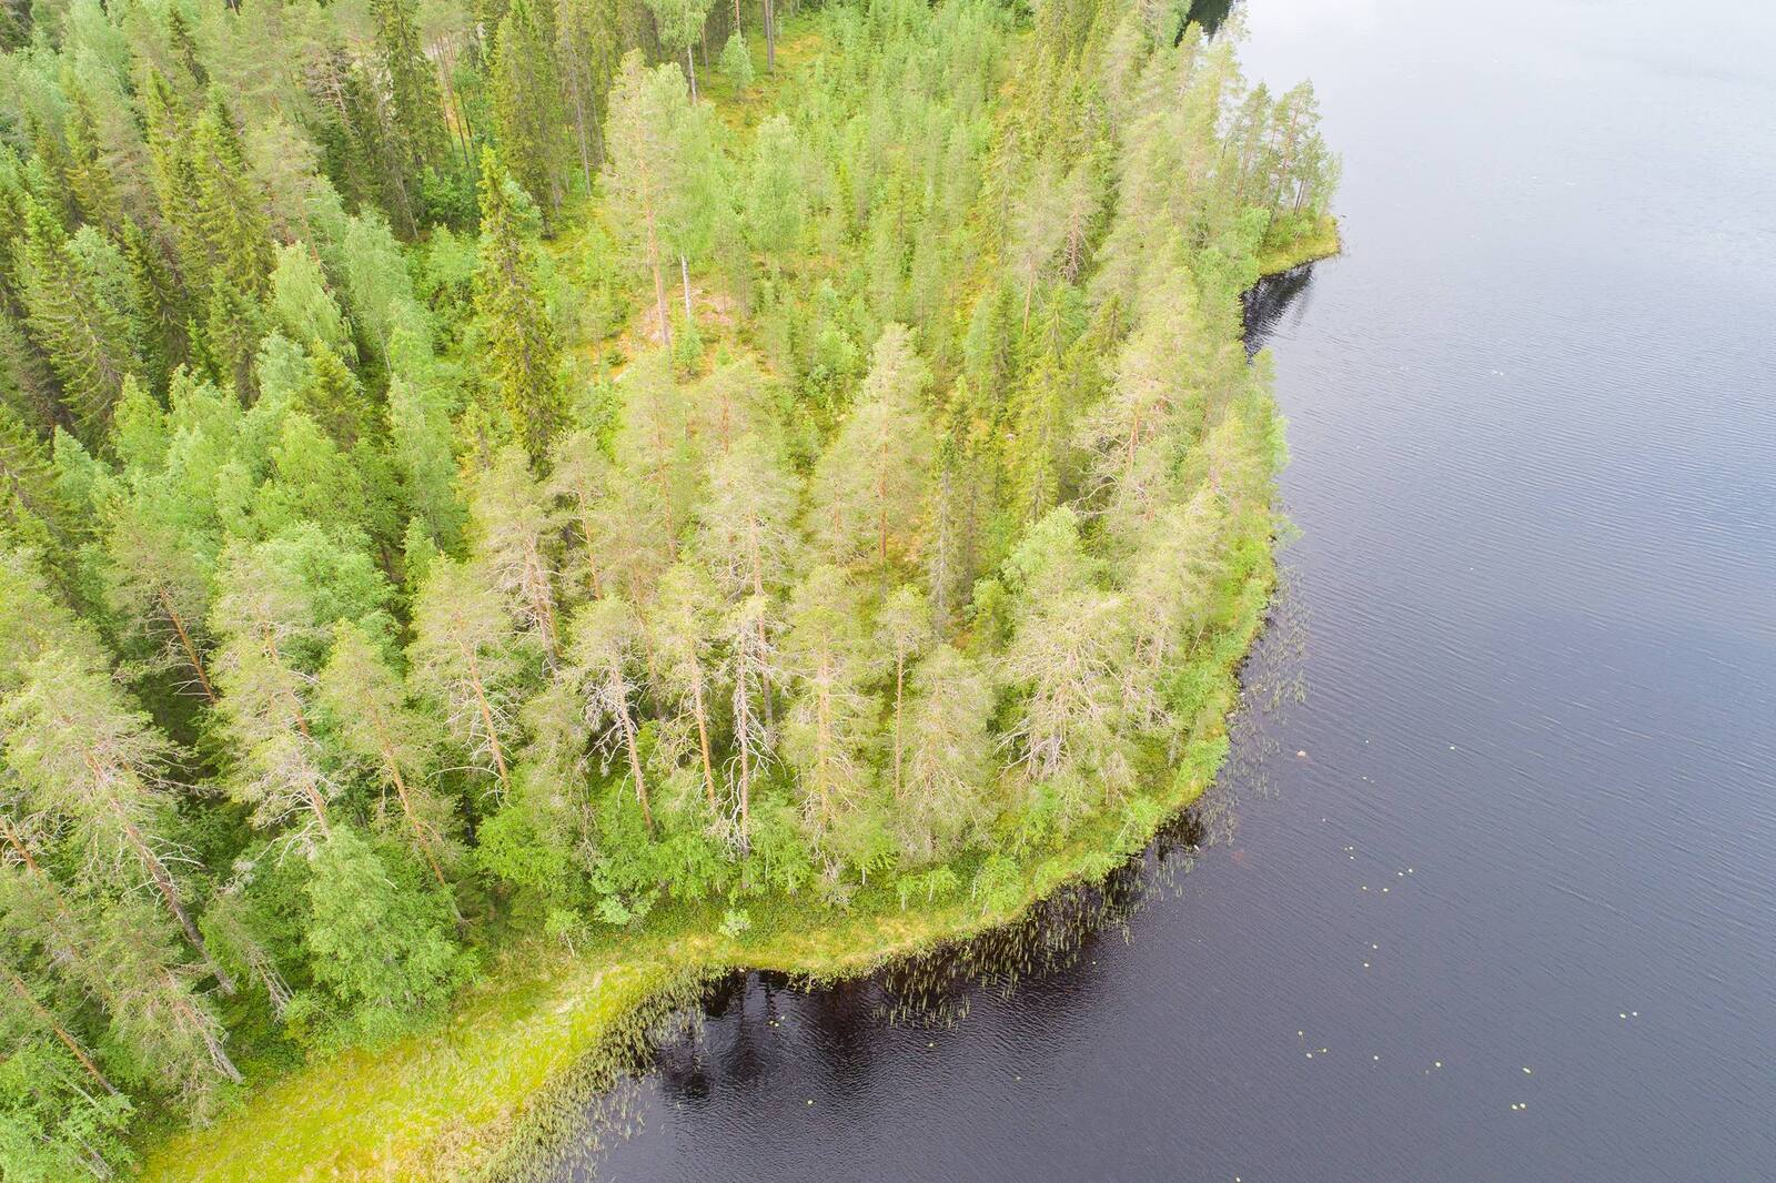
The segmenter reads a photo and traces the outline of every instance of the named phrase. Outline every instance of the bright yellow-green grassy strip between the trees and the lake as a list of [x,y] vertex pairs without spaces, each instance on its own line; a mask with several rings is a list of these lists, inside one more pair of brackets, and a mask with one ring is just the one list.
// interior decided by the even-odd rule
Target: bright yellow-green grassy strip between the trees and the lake
[[602,1087],[645,1025],[733,968],[806,981],[868,973],[1009,924],[1067,883],[1098,879],[1208,787],[1227,750],[1238,668],[1273,588],[1268,560],[1250,572],[1217,632],[1220,686],[1204,702],[1177,774],[1153,792],[1144,831],[1101,815],[1027,869],[1019,904],[986,911],[959,899],[902,911],[883,890],[872,908],[810,925],[794,902],[751,904],[741,938],[719,909],[666,909],[643,933],[579,950],[542,941],[508,949],[451,1021],[378,1050],[316,1060],[247,1098],[215,1126],[172,1135],[146,1155],[146,1179],[508,1178],[535,1167],[563,1107]]

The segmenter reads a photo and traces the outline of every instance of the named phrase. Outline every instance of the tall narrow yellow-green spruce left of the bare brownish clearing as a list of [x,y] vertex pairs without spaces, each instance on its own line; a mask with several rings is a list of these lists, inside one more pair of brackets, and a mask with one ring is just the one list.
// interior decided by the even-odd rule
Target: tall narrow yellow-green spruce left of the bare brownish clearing
[[511,428],[531,460],[567,425],[559,353],[549,304],[536,279],[536,245],[522,226],[522,197],[494,153],[481,153],[481,261],[474,306],[488,343],[488,366]]

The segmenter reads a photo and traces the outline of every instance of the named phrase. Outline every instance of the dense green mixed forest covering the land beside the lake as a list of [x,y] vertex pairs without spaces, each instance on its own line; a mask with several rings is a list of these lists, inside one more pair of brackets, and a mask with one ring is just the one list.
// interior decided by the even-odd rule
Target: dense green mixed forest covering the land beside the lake
[[0,1178],[1149,833],[1337,174],[1186,9],[0,7]]

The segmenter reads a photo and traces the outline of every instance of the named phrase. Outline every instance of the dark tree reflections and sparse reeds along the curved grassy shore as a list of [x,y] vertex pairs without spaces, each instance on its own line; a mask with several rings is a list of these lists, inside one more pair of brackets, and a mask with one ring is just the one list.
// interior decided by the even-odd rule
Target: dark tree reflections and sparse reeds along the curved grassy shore
[[[659,1096],[691,1112],[719,1110],[723,1089],[753,1085],[773,1073],[796,1073],[822,1105],[870,1103],[877,1069],[893,1071],[892,1028],[950,1027],[968,1018],[979,998],[1016,1005],[1019,1043],[1039,1055],[1060,1046],[1048,1030],[1064,1030],[1071,1014],[1096,1005],[1096,961],[1106,940],[1133,940],[1135,918],[1156,901],[1176,899],[1186,876],[1213,847],[1231,846],[1240,803],[1270,796],[1275,730],[1304,696],[1302,663],[1307,618],[1296,574],[1279,572],[1277,595],[1259,641],[1240,671],[1240,703],[1227,721],[1229,753],[1202,798],[1167,821],[1153,842],[1101,883],[1067,886],[1021,920],[968,941],[899,961],[863,979],[806,986],[781,973],[730,973],[703,989],[648,1032]],[[638,1064],[638,1069],[641,1066]],[[1028,1071],[1028,1069],[1027,1069]],[[599,1178],[602,1147],[641,1124],[645,1087],[636,1075],[586,1100],[575,1130],[563,1139],[554,1178]],[[694,1117],[693,1117],[694,1121]]]

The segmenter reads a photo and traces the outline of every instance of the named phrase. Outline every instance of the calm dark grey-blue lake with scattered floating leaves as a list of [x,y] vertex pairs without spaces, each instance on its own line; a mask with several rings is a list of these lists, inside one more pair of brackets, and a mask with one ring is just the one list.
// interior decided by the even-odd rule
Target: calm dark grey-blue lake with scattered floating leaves
[[1776,12],[1247,21],[1344,155],[1254,309],[1305,700],[1073,956],[742,982],[565,1176],[1776,1178]]

